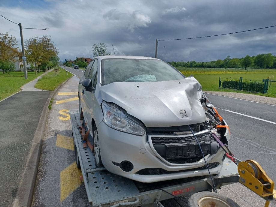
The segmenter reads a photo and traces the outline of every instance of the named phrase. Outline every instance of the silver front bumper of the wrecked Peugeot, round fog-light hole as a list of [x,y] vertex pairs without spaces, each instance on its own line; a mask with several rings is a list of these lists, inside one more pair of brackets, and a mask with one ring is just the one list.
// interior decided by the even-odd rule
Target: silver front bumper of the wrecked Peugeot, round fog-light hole
[[[204,159],[186,164],[165,163],[156,155],[156,152],[150,146],[146,133],[143,136],[127,134],[108,127],[104,122],[100,122],[97,129],[102,163],[111,173],[145,183],[205,176],[209,174],[205,168]],[[226,137],[229,140],[228,133]],[[207,164],[219,163],[217,167],[209,169],[211,174],[220,173],[224,155],[225,153],[220,148],[216,154],[205,156]],[[133,165],[132,170],[129,172],[123,171],[120,167],[120,163],[123,161],[131,162]],[[161,169],[165,173],[141,175],[138,172],[149,168]]]

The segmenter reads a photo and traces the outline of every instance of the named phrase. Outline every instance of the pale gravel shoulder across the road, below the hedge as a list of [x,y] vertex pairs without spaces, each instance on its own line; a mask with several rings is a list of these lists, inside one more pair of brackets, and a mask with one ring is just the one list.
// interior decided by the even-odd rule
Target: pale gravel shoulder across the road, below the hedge
[[211,93],[215,95],[227,96],[232,98],[240,98],[248,101],[256,101],[264,104],[271,104],[276,106],[276,98],[259,96],[254,94],[244,94],[235,92],[225,92],[225,91],[204,91],[205,93]]

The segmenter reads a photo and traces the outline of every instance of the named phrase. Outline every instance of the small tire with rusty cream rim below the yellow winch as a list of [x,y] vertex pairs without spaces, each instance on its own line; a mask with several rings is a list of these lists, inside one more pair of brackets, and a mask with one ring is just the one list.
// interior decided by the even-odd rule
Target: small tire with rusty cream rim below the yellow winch
[[213,192],[198,192],[193,194],[188,200],[189,207],[240,207],[232,199]]

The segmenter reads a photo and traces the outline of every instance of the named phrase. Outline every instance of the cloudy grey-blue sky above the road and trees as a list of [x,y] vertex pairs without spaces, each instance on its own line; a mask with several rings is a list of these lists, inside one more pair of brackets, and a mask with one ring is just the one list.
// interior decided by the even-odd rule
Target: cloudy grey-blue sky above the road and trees
[[[50,35],[65,58],[92,57],[104,42],[116,55],[154,57],[155,39],[191,38],[276,25],[276,1],[1,0],[0,14],[23,27],[23,38]],[[0,33],[20,43],[19,27],[0,16]],[[21,46],[20,46],[21,47]],[[227,55],[276,55],[276,27],[194,40],[160,41],[165,61],[210,61]]]

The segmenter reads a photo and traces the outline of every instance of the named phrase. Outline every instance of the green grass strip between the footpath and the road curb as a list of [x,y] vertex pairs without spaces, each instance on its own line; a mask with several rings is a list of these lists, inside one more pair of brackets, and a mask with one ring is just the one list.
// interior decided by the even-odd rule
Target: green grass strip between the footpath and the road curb
[[35,84],[35,88],[54,91],[56,87],[58,87],[62,82],[64,82],[71,76],[71,73],[68,73],[66,75],[66,70],[59,67],[59,71],[51,71],[38,79],[38,82]]

